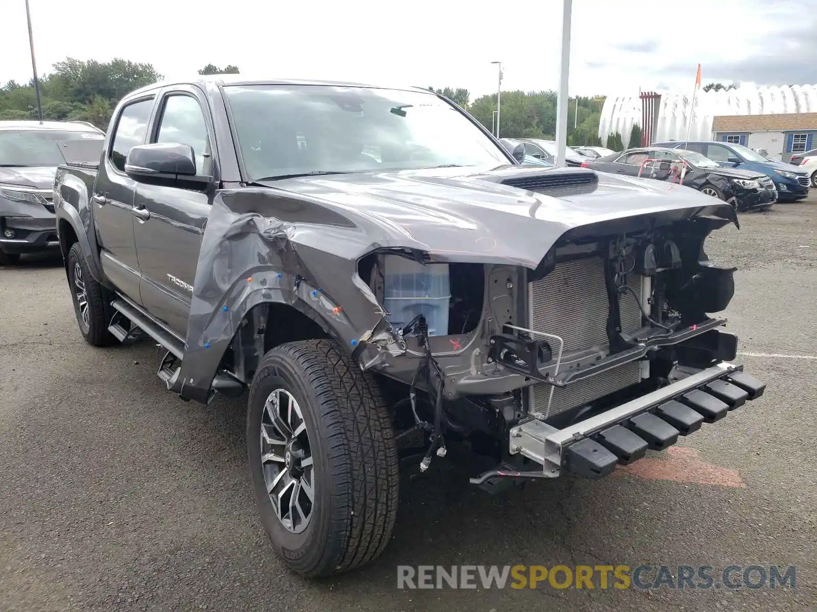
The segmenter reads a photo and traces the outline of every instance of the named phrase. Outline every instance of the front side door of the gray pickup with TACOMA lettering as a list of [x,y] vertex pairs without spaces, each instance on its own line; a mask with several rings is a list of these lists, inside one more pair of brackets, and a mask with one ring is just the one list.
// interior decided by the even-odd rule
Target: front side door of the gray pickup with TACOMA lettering
[[142,302],[151,315],[184,338],[204,226],[217,184],[215,140],[207,100],[194,86],[163,90],[154,117],[148,142],[190,144],[197,175],[211,179],[140,182],[136,187],[134,207],[140,212],[134,235]]

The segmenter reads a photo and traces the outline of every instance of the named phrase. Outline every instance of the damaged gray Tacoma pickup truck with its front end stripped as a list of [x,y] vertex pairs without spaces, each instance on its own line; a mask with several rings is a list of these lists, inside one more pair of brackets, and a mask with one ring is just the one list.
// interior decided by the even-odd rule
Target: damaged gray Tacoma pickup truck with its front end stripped
[[734,268],[703,250],[725,202],[522,166],[431,91],[229,79],[127,95],[54,203],[90,344],[150,337],[185,400],[249,390],[292,570],[377,557],[405,464],[603,477],[764,391],[717,316]]

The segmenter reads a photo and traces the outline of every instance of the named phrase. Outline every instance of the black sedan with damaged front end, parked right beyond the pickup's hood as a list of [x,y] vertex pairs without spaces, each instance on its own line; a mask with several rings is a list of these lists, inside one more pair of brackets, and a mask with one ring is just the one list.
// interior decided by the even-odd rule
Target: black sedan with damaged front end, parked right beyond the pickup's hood
[[764,174],[718,165],[685,149],[626,149],[582,164],[600,172],[667,180],[730,202],[739,211],[768,210],[777,200],[775,184]]

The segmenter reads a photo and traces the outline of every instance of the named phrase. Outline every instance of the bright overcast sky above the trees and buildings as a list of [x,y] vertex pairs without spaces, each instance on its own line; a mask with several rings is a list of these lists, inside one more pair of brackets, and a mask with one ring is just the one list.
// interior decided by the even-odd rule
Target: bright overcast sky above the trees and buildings
[[[38,71],[66,56],[378,84],[556,89],[560,0],[29,0]],[[817,83],[817,0],[574,0],[569,95]],[[499,7],[495,11],[494,7]],[[515,9],[514,7],[519,7]],[[31,77],[24,0],[0,0],[0,83]],[[514,32],[513,25],[520,24]]]

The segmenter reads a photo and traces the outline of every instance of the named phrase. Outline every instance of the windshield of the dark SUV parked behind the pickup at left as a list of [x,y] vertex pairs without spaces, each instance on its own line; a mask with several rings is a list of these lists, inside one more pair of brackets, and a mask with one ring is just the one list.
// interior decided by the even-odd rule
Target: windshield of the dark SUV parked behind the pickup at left
[[105,135],[94,131],[0,131],[0,166],[59,166],[65,163],[60,142],[86,139],[105,140]]

